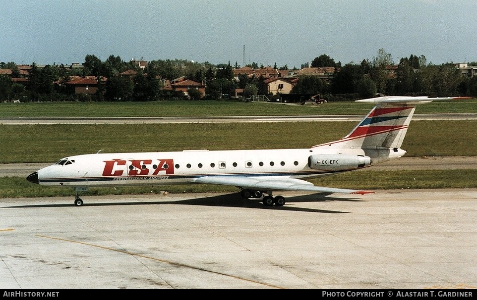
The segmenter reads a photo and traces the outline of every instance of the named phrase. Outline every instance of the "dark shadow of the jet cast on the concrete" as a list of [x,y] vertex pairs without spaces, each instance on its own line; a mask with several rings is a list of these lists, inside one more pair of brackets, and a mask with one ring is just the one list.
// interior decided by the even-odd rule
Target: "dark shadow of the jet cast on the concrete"
[[[240,197],[239,193],[232,194],[222,194],[211,197],[201,197],[195,199],[187,200],[159,200],[159,201],[135,201],[135,202],[103,202],[98,203],[97,200],[94,202],[89,202],[86,199],[83,206],[108,206],[108,205],[151,205],[151,204],[182,204],[182,205],[206,205],[206,206],[224,206],[224,207],[246,207],[246,208],[257,208],[257,209],[275,209],[275,210],[288,210],[288,211],[306,211],[306,212],[318,212],[318,213],[349,213],[347,211],[336,211],[336,210],[324,210],[324,209],[314,209],[306,207],[298,207],[296,204],[301,202],[326,202],[326,201],[354,201],[360,202],[365,200],[354,199],[354,198],[337,198],[329,197],[330,194],[311,194],[311,195],[300,195],[294,197],[287,197],[286,203],[284,206],[265,206],[260,199],[243,199]],[[124,195],[127,198],[127,195]],[[131,197],[131,199],[133,199]],[[73,206],[72,203],[61,203],[61,204],[35,204],[35,205],[16,205],[9,206],[9,208],[32,208],[32,207],[69,207]],[[6,208],[6,207],[5,207]],[[81,209],[81,207],[78,207]]]

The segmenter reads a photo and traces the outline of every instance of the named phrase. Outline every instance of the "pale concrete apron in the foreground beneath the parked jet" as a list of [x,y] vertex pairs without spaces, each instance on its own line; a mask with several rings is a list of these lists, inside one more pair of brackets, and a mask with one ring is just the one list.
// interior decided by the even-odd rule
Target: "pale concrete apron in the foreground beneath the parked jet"
[[3,289],[477,287],[477,189],[0,200]]

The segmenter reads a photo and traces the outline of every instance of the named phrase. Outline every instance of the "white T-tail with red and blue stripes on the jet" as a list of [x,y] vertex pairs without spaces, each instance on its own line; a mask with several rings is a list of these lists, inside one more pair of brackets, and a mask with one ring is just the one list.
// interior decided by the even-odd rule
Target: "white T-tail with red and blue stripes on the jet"
[[400,149],[417,104],[462,99],[386,96],[357,102],[375,103],[373,109],[346,137],[327,144],[332,149]]

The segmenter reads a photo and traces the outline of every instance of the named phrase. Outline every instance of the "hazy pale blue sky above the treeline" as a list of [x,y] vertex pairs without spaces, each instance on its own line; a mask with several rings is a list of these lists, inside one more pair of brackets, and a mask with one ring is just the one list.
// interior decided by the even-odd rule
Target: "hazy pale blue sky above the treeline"
[[0,0],[0,61],[477,61],[477,0]]

